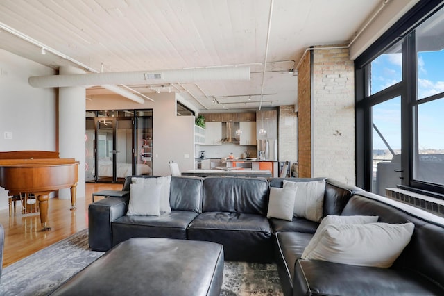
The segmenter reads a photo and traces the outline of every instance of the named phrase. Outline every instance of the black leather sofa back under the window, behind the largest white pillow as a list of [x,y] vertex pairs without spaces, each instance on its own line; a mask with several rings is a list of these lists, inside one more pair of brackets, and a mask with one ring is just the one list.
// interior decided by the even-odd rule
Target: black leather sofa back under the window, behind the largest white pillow
[[355,192],[342,215],[377,215],[379,222],[413,222],[415,229],[393,268],[407,268],[444,283],[444,219],[370,192]]

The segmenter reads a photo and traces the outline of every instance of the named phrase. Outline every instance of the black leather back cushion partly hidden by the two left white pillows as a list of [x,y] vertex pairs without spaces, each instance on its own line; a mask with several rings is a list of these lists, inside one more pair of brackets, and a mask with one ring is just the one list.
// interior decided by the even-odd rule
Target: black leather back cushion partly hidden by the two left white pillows
[[[131,178],[155,178],[156,176],[127,176],[122,190],[130,190]],[[169,203],[173,211],[193,211],[202,213],[203,178],[171,176]]]

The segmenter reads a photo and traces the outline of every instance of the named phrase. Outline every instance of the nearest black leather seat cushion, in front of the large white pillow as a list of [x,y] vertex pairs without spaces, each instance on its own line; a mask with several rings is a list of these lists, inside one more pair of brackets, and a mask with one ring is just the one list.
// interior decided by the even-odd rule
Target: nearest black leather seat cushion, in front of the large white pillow
[[443,295],[444,290],[411,270],[300,259],[293,295]]

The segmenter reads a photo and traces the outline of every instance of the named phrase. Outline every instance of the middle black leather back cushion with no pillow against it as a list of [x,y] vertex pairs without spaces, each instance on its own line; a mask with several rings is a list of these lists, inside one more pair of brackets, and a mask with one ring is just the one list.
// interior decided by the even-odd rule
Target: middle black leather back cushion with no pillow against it
[[266,216],[268,181],[264,178],[207,177],[203,181],[203,212],[250,213]]

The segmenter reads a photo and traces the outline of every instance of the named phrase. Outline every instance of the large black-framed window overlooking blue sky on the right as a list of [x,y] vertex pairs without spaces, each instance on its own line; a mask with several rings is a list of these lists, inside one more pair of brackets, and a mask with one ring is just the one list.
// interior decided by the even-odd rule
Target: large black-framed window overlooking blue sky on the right
[[357,185],[444,194],[444,8],[420,1],[355,61]]

